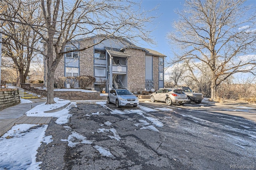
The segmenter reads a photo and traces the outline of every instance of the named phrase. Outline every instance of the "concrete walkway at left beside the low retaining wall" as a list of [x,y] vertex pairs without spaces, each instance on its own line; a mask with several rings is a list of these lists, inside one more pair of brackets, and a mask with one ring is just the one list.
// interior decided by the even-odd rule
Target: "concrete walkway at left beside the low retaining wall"
[[0,136],[6,133],[15,124],[47,124],[51,118],[43,117],[27,117],[25,113],[46,100],[30,99],[33,103],[20,103],[18,105],[8,107],[0,111]]

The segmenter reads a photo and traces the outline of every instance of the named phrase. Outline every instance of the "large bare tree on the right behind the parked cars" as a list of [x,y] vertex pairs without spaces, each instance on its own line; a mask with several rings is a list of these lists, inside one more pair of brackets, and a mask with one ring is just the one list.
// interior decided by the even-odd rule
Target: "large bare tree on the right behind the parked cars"
[[[210,70],[211,98],[234,73],[256,75],[256,8],[246,0],[185,0],[180,20],[167,35],[179,47],[170,61],[205,63]],[[193,71],[193,70],[192,70]]]

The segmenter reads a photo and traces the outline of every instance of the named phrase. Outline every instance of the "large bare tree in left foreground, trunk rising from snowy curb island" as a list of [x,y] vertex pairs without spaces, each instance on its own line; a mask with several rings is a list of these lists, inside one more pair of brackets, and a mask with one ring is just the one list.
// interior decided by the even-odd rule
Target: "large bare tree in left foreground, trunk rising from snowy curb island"
[[[9,0],[3,0],[6,3]],[[45,44],[46,51],[42,51],[47,62],[47,102],[54,102],[54,72],[65,53],[84,51],[109,38],[126,38],[130,42],[144,40],[154,43],[150,36],[152,22],[157,16],[148,15],[150,11],[140,10],[140,3],[132,0],[30,0],[34,6],[40,6],[39,15],[44,23],[40,25],[23,24],[37,31]],[[154,9],[153,9],[154,10]],[[1,20],[1,19],[0,19]],[[10,21],[13,19],[10,17]],[[13,21],[15,22],[15,21]],[[67,43],[79,39],[97,36],[98,41],[79,49],[65,51]]]

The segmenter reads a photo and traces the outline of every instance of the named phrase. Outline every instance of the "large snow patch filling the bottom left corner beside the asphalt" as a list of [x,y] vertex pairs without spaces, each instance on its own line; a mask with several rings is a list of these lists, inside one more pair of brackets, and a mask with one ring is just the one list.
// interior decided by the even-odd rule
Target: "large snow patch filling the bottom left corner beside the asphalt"
[[36,126],[15,125],[0,138],[0,169],[39,169],[41,162],[36,162],[36,150],[41,142],[47,143],[50,139],[44,136],[48,125]]

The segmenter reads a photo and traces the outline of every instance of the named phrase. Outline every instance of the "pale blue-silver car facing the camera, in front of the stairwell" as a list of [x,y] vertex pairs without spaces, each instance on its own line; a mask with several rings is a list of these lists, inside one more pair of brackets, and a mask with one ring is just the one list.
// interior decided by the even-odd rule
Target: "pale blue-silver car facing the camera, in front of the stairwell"
[[139,99],[127,89],[112,89],[108,93],[107,103],[115,103],[116,107],[139,105]]

